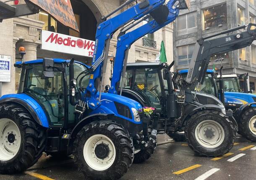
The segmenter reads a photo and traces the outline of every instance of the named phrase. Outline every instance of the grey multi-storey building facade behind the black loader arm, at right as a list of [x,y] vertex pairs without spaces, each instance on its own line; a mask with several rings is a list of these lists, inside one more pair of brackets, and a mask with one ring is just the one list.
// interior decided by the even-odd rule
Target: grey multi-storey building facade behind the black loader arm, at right
[[[255,23],[255,0],[191,0],[191,10],[183,11],[174,25],[175,69],[188,68],[197,39],[248,23]],[[224,74],[248,72],[250,89],[255,91],[256,43],[237,51],[212,56],[209,68],[220,68],[217,58],[224,58]]]

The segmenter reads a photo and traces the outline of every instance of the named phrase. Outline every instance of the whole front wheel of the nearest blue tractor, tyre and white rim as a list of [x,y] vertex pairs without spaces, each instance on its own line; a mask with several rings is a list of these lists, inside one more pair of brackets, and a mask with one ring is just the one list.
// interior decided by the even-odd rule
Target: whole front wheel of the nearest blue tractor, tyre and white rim
[[112,121],[94,121],[78,133],[73,145],[78,170],[86,178],[114,180],[131,166],[134,147],[129,133]]

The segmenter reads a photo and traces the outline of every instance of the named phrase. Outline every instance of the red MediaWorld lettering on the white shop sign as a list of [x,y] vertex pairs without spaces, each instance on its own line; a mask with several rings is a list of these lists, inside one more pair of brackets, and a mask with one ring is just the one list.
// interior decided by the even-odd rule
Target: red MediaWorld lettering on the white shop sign
[[[86,41],[82,39],[77,39],[77,40],[72,40],[71,38],[62,38],[59,37],[58,34],[51,33],[51,35],[47,38],[45,42],[50,41],[50,43],[55,43],[59,45],[64,45],[64,46],[70,46],[73,48],[84,48],[87,50],[94,51],[94,42],[93,41]],[[90,52],[93,54],[93,52]],[[92,54],[89,54],[89,56],[92,56]]]

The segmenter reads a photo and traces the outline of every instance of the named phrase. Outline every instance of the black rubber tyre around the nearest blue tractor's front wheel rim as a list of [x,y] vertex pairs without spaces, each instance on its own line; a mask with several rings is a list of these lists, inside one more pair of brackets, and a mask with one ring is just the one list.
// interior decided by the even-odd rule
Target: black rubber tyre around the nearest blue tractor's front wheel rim
[[[86,141],[96,134],[107,136],[115,146],[115,160],[106,170],[93,169],[87,164],[84,157],[84,145]],[[96,154],[96,151],[94,152]],[[111,121],[94,121],[86,125],[78,133],[73,145],[73,155],[78,170],[83,172],[86,178],[94,180],[116,180],[122,177],[131,166],[134,158],[134,147],[129,133],[122,125]]]

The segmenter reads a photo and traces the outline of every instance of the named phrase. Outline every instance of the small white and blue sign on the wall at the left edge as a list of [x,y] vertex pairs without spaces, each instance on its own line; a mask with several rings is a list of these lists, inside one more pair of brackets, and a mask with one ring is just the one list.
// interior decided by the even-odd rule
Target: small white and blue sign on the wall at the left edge
[[0,82],[10,82],[11,56],[0,55]]

